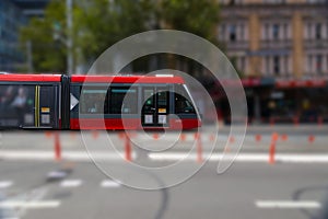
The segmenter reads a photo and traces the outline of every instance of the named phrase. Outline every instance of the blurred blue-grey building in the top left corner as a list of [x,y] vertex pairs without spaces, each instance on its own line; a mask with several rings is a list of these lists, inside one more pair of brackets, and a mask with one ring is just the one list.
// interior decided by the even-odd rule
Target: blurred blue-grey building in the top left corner
[[19,44],[20,27],[30,18],[43,16],[49,0],[0,0],[0,71],[26,66],[28,45]]

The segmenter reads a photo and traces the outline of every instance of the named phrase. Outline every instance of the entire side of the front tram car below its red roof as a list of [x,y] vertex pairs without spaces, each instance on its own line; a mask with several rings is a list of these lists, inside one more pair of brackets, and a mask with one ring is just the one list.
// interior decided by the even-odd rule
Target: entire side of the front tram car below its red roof
[[192,129],[200,126],[192,99],[183,85],[177,88],[181,95],[167,84],[112,83],[107,88],[104,83],[89,83],[82,89],[81,83],[71,83],[70,128]]

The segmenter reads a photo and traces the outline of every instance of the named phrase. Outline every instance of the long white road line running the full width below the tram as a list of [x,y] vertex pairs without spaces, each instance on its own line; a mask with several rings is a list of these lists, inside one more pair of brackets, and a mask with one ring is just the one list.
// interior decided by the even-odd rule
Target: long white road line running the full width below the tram
[[[150,160],[154,161],[195,161],[197,159],[196,153],[188,152],[164,152],[164,153],[149,153]],[[239,153],[235,158],[233,152],[231,153],[207,153],[203,152],[202,157],[204,160],[210,161],[230,161],[235,159],[236,162],[268,162],[268,153]],[[125,161],[124,152],[114,153],[106,151],[92,152],[87,154],[85,151],[63,151],[62,159],[77,161],[77,162],[92,162],[93,158],[96,161]],[[132,152],[132,159],[137,158],[137,153]],[[55,154],[52,151],[1,151],[0,159],[3,160],[33,160],[33,161],[54,161]],[[274,155],[277,162],[285,163],[328,163],[328,154],[303,154],[303,153],[277,153]]]

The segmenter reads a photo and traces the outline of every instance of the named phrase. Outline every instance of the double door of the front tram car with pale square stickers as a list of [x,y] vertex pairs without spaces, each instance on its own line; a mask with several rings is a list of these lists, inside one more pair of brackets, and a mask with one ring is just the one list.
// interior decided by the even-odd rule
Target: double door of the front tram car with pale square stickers
[[142,88],[141,119],[144,127],[168,126],[168,87]]

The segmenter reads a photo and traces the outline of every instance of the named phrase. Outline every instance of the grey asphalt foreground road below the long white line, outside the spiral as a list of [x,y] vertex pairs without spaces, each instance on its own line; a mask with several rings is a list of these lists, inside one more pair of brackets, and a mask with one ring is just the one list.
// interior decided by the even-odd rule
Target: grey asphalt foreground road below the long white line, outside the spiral
[[[2,199],[58,201],[58,206],[3,208],[2,218],[311,218],[320,209],[259,208],[256,201],[315,201],[325,208],[327,165],[235,164],[215,174],[210,163],[189,181],[167,189],[139,191],[116,184],[92,163],[74,163],[67,176],[51,162],[1,162]],[[104,183],[104,182],[107,182]],[[107,186],[106,186],[107,185]]]

